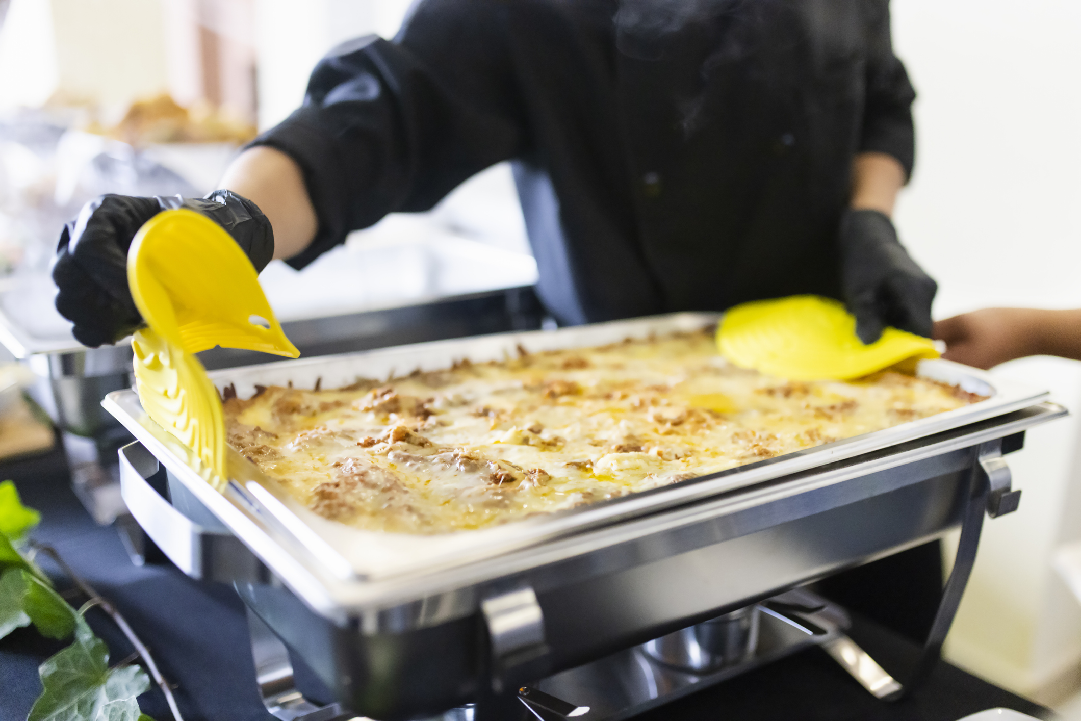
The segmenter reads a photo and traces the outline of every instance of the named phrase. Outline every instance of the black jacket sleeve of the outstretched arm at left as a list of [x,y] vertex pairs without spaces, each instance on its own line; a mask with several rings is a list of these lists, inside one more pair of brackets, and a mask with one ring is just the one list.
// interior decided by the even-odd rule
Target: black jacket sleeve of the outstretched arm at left
[[501,28],[507,4],[424,0],[393,42],[343,43],[316,66],[304,105],[252,143],[301,165],[319,218],[291,266],[387,213],[428,210],[519,153],[523,121]]

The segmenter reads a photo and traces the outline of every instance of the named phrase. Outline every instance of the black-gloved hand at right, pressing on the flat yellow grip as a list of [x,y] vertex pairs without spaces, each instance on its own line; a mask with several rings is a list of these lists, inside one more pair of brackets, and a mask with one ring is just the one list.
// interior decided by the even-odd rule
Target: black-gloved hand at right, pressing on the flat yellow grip
[[886,325],[931,337],[931,302],[938,284],[909,257],[893,223],[873,210],[848,210],[838,235],[841,289],[864,343]]

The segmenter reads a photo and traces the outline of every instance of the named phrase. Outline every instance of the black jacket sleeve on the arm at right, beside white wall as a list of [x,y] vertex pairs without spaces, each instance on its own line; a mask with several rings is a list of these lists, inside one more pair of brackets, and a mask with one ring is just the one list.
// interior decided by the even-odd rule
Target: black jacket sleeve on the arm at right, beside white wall
[[908,72],[893,54],[889,0],[869,3],[867,90],[859,150],[885,152],[900,161],[911,177],[916,159],[912,101],[916,91]]

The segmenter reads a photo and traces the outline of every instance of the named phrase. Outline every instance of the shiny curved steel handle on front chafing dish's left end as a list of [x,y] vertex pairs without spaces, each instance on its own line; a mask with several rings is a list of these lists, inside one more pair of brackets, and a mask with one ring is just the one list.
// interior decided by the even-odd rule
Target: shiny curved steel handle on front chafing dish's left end
[[[208,531],[163,498],[147,482],[158,472],[159,466],[158,459],[142,443],[129,443],[120,449],[118,455],[120,495],[131,515],[169,560],[192,578],[231,580],[213,573],[212,560],[235,553],[237,546],[250,555],[236,536]],[[228,546],[228,549],[223,546]]]

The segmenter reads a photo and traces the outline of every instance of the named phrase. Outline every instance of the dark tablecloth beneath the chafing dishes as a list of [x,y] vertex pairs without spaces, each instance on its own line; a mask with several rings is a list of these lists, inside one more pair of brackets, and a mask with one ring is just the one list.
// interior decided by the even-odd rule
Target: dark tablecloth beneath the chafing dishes
[[[166,679],[176,684],[174,693],[185,721],[271,719],[256,692],[244,605],[230,587],[199,584],[168,563],[132,565],[117,532],[97,525],[76,498],[59,452],[0,465],[0,479],[8,478],[15,481],[24,502],[42,512],[35,537],[56,547],[77,573],[119,607],[150,646]],[[65,582],[59,585],[63,588]],[[897,592],[904,593],[900,588]],[[129,655],[126,642],[99,612],[91,610],[88,618],[109,644],[115,662]],[[904,619],[891,625],[904,630]],[[920,656],[918,643],[859,614],[852,614],[848,635],[894,676],[903,675]],[[26,719],[41,691],[37,667],[62,645],[32,629],[19,629],[0,640],[0,721]],[[171,718],[160,692],[144,694],[139,703],[158,721]],[[810,646],[635,718],[957,721],[995,707],[1055,718],[1049,709],[945,662],[903,700],[884,703],[868,694],[824,651]]]

